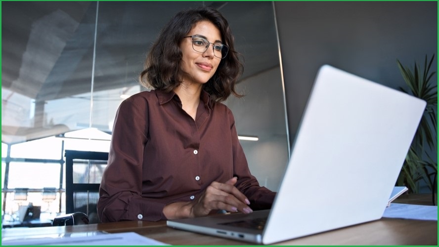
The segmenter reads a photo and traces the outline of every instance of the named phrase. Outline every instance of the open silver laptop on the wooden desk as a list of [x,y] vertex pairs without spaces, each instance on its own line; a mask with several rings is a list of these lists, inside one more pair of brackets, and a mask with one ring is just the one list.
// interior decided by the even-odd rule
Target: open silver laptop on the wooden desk
[[408,94],[324,65],[271,210],[167,224],[272,244],[380,219],[425,105]]

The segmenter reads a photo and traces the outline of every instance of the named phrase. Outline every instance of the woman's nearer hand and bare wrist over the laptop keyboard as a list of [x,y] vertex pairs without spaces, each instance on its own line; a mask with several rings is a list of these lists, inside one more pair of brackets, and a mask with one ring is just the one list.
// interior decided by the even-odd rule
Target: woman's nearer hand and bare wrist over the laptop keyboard
[[198,200],[190,203],[173,203],[165,206],[163,213],[168,219],[206,216],[212,210],[241,211],[251,213],[249,200],[236,187],[237,178],[225,183],[212,182]]

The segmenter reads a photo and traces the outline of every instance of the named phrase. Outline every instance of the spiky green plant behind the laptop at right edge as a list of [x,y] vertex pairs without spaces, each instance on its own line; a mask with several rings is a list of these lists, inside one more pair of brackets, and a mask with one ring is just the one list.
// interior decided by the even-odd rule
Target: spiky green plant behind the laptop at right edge
[[427,63],[427,55],[425,56],[422,74],[416,62],[412,71],[407,67],[404,68],[397,60],[399,70],[408,86],[408,90],[402,87],[400,89],[427,102],[421,122],[396,182],[397,186],[406,186],[409,193],[418,193],[420,181],[425,182],[433,195],[437,193],[438,162],[435,157],[438,154],[438,83],[431,81],[436,71],[430,72],[434,58],[435,54]]

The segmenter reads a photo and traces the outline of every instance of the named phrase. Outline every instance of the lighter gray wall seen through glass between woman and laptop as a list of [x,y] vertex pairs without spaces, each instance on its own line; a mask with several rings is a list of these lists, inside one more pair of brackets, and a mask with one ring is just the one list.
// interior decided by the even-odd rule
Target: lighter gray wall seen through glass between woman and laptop
[[237,85],[243,98],[225,102],[235,117],[240,135],[257,135],[259,141],[241,141],[250,171],[262,186],[277,191],[289,158],[280,68],[277,66]]

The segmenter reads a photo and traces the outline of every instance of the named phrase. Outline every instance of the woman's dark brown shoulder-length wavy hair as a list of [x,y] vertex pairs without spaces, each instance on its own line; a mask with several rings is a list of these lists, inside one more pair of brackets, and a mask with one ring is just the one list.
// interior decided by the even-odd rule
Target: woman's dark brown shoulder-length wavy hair
[[227,20],[219,11],[210,7],[201,7],[178,12],[162,29],[157,41],[152,45],[144,70],[139,75],[139,82],[146,88],[172,91],[181,83],[182,71],[180,63],[182,53],[180,42],[190,30],[200,21],[210,21],[218,27],[221,39],[229,47],[227,56],[221,59],[214,76],[203,85],[212,99],[224,101],[233,94],[241,97],[235,91],[235,84],[243,71],[238,52],[234,49],[234,37]]

